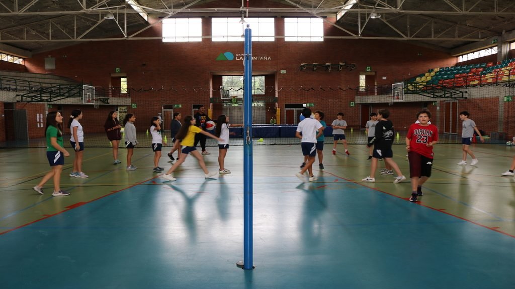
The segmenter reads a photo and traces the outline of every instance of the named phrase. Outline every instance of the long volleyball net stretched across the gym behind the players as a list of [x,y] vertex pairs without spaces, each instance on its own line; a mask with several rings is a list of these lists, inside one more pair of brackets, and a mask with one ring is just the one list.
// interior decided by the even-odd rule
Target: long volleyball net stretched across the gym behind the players
[[[473,87],[444,88],[425,87],[417,89],[396,83],[372,88],[349,88],[334,86],[265,87],[253,91],[253,142],[255,145],[294,145],[300,143],[295,137],[301,112],[305,107],[313,113],[324,113],[325,142],[332,143],[331,123],[338,113],[344,113],[347,122],[347,142],[367,143],[365,124],[370,113],[381,109],[390,111],[389,119],[396,130],[396,141],[404,143],[409,125],[417,120],[416,113],[427,109],[432,113],[431,121],[437,125],[440,143],[461,143],[461,121],[459,113],[467,111],[477,128],[486,136],[486,142],[506,143],[515,136],[515,83],[500,83]],[[109,147],[104,133],[104,122],[110,111],[117,111],[120,122],[127,113],[136,115],[135,127],[139,147],[150,147],[148,133],[150,119],[160,116],[163,120],[163,140],[171,146],[170,121],[174,112],[182,117],[194,115],[203,105],[209,117],[216,121],[219,115],[229,116],[230,123],[243,123],[243,89],[235,87],[181,87],[181,88],[128,88],[130,103],[113,105],[101,103],[98,108],[89,104],[63,105],[64,116],[74,109],[83,111],[81,120],[84,128],[85,145],[88,147]],[[116,103],[111,101],[111,103]],[[65,119],[64,123],[67,123]],[[214,131],[212,131],[214,132]],[[231,128],[230,145],[243,145],[243,129]],[[65,145],[70,130],[65,129]],[[22,147],[45,147],[44,139],[30,139]],[[209,139],[207,146],[217,146]]]

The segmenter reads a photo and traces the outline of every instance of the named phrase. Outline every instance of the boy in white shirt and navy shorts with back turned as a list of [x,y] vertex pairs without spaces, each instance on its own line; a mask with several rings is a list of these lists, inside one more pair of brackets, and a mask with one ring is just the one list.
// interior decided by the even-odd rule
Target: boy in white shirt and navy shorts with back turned
[[304,173],[307,170],[307,172],[310,174],[310,177],[307,180],[309,182],[313,182],[317,180],[317,177],[313,175],[313,162],[315,162],[315,155],[317,153],[317,138],[322,135],[323,127],[318,120],[311,118],[311,110],[307,107],[302,110],[302,115],[304,116],[304,119],[299,122],[295,136],[302,140],[302,155],[307,156],[307,162],[304,168],[302,168],[302,170],[295,175],[302,182],[306,182]]

